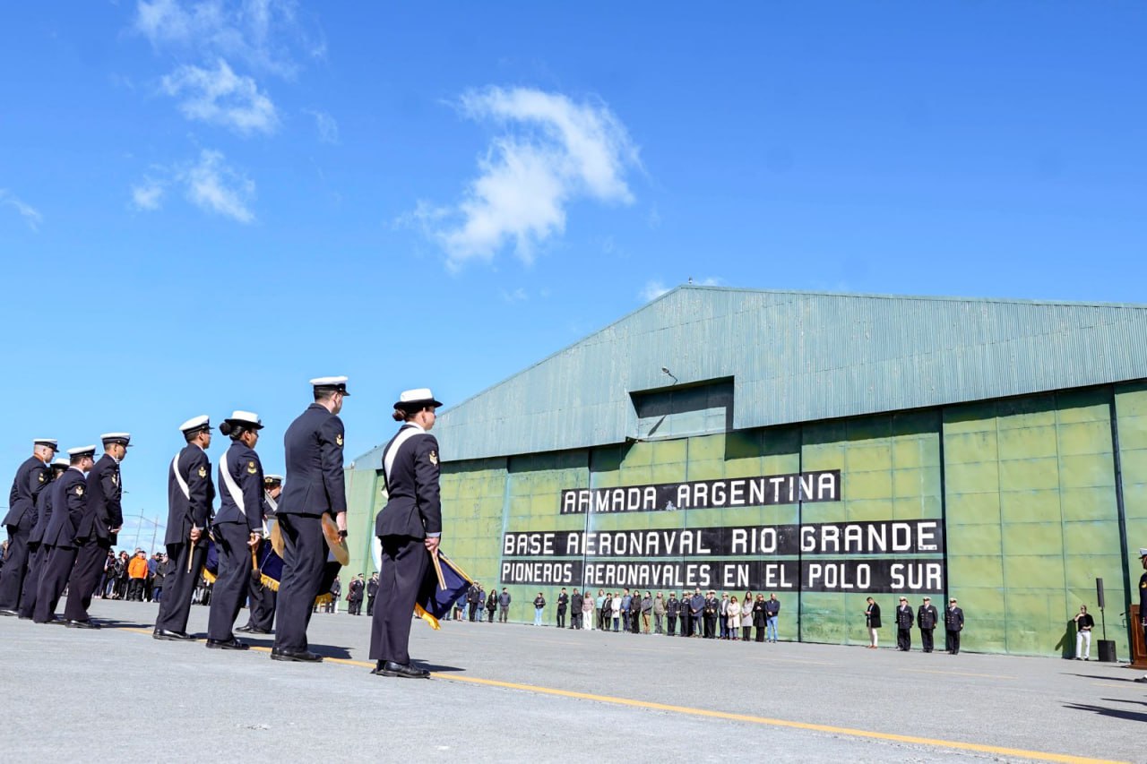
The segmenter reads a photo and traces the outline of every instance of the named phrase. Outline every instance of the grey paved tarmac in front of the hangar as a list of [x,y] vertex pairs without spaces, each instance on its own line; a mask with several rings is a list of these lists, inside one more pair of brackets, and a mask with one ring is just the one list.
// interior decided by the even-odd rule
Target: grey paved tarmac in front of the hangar
[[328,660],[304,665],[268,637],[156,641],[157,607],[0,618],[5,762],[1147,761],[1147,685],[1119,664],[416,622],[435,675],[407,680],[369,673],[366,616],[315,615]]

